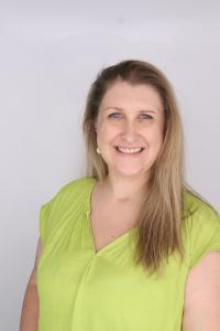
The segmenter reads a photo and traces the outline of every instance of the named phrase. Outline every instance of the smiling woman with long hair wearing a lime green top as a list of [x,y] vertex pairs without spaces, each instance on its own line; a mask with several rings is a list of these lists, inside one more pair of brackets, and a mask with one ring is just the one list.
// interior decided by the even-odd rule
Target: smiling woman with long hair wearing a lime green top
[[184,182],[166,77],[141,61],[103,70],[84,132],[88,177],[41,209],[21,331],[220,330],[220,220]]

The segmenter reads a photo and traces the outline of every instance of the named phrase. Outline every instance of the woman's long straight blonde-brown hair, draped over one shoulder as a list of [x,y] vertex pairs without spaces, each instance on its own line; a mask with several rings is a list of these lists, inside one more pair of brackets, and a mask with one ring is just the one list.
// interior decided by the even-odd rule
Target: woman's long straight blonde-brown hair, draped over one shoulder
[[174,250],[184,258],[182,224],[184,218],[183,129],[173,88],[165,75],[143,61],[123,61],[102,70],[92,83],[84,115],[87,145],[87,174],[99,181],[108,175],[108,167],[97,153],[95,121],[107,89],[118,79],[132,85],[146,84],[161,96],[164,109],[164,137],[153,164],[148,191],[140,211],[135,263],[150,274],[157,271],[164,257]]

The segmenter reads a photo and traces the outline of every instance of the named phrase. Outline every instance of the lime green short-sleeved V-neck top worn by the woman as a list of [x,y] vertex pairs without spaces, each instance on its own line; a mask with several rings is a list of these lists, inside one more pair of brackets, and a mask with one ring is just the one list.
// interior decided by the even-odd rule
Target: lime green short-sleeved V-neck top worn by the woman
[[189,269],[220,250],[220,218],[191,194],[183,264],[170,255],[162,274],[147,277],[133,263],[133,228],[98,253],[90,223],[94,178],[72,181],[40,212],[44,244],[37,268],[38,331],[180,331]]

